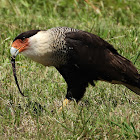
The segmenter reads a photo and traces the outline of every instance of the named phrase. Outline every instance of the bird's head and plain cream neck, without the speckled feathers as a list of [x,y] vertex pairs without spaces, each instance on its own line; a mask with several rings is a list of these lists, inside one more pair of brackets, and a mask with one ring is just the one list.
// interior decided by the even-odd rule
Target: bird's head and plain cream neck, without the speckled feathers
[[11,55],[16,57],[19,53],[43,64],[53,65],[52,62],[52,36],[48,31],[30,30],[18,35],[12,43]]

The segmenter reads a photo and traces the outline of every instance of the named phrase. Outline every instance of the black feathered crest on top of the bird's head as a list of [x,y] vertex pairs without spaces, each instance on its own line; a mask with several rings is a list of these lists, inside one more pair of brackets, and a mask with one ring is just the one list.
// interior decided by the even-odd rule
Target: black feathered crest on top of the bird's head
[[36,33],[38,33],[39,31],[40,31],[40,30],[30,30],[30,31],[23,32],[23,33],[21,33],[20,35],[18,35],[18,36],[13,40],[13,42],[14,42],[15,40],[17,40],[17,39],[23,40],[24,38],[29,38],[29,37],[35,35]]

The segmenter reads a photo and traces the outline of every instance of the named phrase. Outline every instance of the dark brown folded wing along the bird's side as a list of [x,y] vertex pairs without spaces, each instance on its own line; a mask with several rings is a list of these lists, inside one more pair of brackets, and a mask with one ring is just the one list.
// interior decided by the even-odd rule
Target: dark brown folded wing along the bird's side
[[138,83],[139,74],[135,66],[100,37],[84,31],[71,32],[66,34],[66,42],[72,48],[71,63],[78,65],[93,80]]

